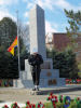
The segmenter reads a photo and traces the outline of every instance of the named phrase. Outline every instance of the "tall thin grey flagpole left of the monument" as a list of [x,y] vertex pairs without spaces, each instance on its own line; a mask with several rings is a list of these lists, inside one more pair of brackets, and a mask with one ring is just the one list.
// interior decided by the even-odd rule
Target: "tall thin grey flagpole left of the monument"
[[19,35],[18,35],[18,10],[16,11],[17,14],[17,55],[18,55],[18,72],[21,72],[21,59],[19,59]]

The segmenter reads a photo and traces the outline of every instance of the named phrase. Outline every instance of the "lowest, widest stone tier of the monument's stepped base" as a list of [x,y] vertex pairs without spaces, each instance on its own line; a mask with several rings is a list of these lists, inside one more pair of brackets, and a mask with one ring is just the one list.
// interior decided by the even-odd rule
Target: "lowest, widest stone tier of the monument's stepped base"
[[[40,79],[39,87],[55,87],[55,86],[64,86],[65,85],[65,78],[56,78],[54,79],[55,82],[48,79]],[[14,80],[13,81],[13,87],[25,87],[25,89],[33,89],[33,82],[32,80]]]

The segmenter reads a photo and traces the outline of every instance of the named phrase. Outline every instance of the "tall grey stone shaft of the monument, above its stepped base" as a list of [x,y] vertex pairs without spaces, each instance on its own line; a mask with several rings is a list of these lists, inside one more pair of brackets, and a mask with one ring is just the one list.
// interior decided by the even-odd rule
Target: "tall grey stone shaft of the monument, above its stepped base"
[[43,58],[46,58],[44,11],[37,4],[29,13],[29,31],[30,53],[32,53],[32,50],[36,48],[38,53],[41,54]]

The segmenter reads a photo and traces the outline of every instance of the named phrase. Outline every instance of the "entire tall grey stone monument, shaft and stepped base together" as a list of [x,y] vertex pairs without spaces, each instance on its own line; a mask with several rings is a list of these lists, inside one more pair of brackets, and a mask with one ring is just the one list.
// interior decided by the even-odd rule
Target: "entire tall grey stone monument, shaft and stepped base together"
[[[40,87],[65,85],[65,79],[59,78],[59,70],[53,69],[53,62],[46,58],[44,11],[38,4],[29,13],[30,54],[33,49],[42,55],[44,63],[41,66]],[[33,87],[30,65],[25,59],[25,71],[21,71],[18,86]]]

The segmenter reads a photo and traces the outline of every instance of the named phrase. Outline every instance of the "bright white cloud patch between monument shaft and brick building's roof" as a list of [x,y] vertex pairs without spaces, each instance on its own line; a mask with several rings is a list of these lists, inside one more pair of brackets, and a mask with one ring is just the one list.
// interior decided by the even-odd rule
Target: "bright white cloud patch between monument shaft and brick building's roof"
[[[55,26],[56,26],[56,24],[55,24]],[[45,21],[45,33],[48,33],[48,32],[56,32],[56,31],[57,30],[56,30],[56,27],[54,27],[54,23],[52,25],[50,22]]]

